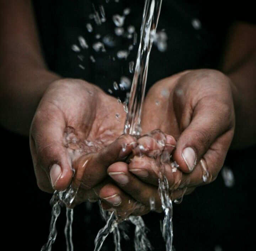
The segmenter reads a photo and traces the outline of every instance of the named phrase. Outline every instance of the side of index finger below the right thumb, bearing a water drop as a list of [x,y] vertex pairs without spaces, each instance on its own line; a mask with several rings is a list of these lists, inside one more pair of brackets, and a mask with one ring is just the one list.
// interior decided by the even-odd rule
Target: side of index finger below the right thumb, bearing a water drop
[[226,132],[212,144],[193,172],[182,175],[180,187],[184,186],[184,184],[188,187],[204,185],[217,178],[228,151],[225,147],[225,141],[227,137],[232,137],[231,135],[232,132]]

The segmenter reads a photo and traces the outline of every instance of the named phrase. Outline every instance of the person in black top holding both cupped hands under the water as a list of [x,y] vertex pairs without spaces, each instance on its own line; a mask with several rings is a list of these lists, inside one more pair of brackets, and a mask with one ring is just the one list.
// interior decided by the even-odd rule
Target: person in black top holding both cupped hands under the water
[[[132,6],[134,4],[135,1],[130,3]],[[200,4],[203,9],[205,6]],[[80,13],[89,14],[92,8],[89,5],[91,3],[79,2],[72,6],[75,10],[71,13],[79,13],[82,6],[86,12],[80,10]],[[123,9],[127,2],[117,5]],[[142,5],[138,4],[138,9],[134,11],[135,18],[131,12],[127,22],[129,18],[134,18],[139,27]],[[87,55],[85,64],[87,62],[88,67],[85,73],[77,73],[75,66],[66,64],[69,57],[74,62],[76,56],[71,49],[67,52],[66,47],[70,48],[70,42],[80,35],[77,34],[80,31],[65,32],[70,31],[70,27],[65,27],[65,24],[73,18],[75,27],[81,17],[74,17],[71,13],[69,17],[65,15],[70,10],[68,1],[65,4],[58,1],[34,2],[34,6],[41,41],[32,2],[1,1],[0,100],[1,125],[30,136],[34,171],[41,190],[64,190],[73,182],[74,186],[79,186],[76,203],[101,198],[104,209],[115,208],[122,213],[129,207],[136,207],[139,202],[143,207],[133,214],[141,215],[150,211],[149,198],[152,196],[156,200],[156,207],[161,208],[158,175],[154,172],[155,163],[150,158],[160,146],[154,135],[148,136],[147,133],[154,134],[155,129],[164,132],[165,149],[179,165],[174,173],[171,168],[166,168],[173,199],[215,180],[230,145],[234,149],[244,149],[255,144],[255,25],[230,20],[216,31],[210,23],[210,17],[203,16],[205,22],[202,25],[206,27],[197,32],[197,28],[187,27],[187,23],[177,25],[177,22],[172,22],[167,10],[172,10],[175,13],[173,18],[178,16],[183,22],[195,14],[199,16],[201,12],[194,10],[192,4],[164,2],[166,10],[163,8],[161,13],[159,29],[161,21],[167,16],[169,18],[162,22],[162,27],[165,25],[167,31],[167,25],[171,23],[168,29],[175,36],[168,36],[171,47],[165,56],[161,54],[162,59],[156,56],[159,51],[152,51],[148,76],[150,89],[142,112],[142,135],[145,136],[137,140],[130,135],[122,135],[126,116],[123,106],[106,93],[109,83],[113,82],[109,80],[117,79],[117,71],[114,72],[117,66],[113,66],[112,62],[109,68],[113,69],[108,70],[112,76],[106,78],[106,70],[103,69],[108,56],[91,51],[95,54],[95,66],[89,62]],[[184,14],[181,11],[184,7],[191,13]],[[53,13],[56,11],[55,18],[50,10]],[[106,15],[112,15],[110,5],[106,6]],[[56,26],[48,30],[53,23]],[[176,25],[187,33],[181,36],[180,30],[175,29]],[[56,27],[59,30],[55,30]],[[95,26],[94,33],[102,29]],[[193,34],[190,44],[188,39],[194,32],[196,34]],[[216,34],[218,36],[214,37]],[[49,35],[55,39],[51,40]],[[62,40],[63,36],[67,37]],[[225,36],[222,64],[217,67]],[[40,43],[44,45],[49,68]],[[115,50],[110,49],[111,53],[115,53]],[[218,55],[214,54],[215,51]],[[184,55],[187,53],[189,55]],[[171,55],[177,62],[170,62]],[[127,61],[120,64],[124,63]],[[154,71],[153,66],[156,65]],[[84,74],[85,80],[78,79],[79,74]],[[153,81],[157,82],[153,84]],[[162,94],[163,89],[165,95]],[[118,95],[121,96],[120,92]],[[115,119],[117,113],[119,118]],[[85,145],[85,140],[95,145],[98,142],[103,144],[92,151]],[[125,162],[131,152],[136,152],[138,143],[146,149],[145,155],[140,157],[135,154],[130,163]],[[128,146],[125,151],[122,150],[123,145]],[[206,182],[202,179],[202,170],[208,170]]]

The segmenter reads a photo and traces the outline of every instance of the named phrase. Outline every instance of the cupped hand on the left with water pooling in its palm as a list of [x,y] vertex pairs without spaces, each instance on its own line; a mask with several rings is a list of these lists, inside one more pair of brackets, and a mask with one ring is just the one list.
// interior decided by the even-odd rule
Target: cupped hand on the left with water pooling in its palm
[[30,129],[39,188],[64,190],[72,181],[80,188],[76,202],[96,200],[108,182],[107,168],[132,151],[135,139],[122,135],[125,118],[122,103],[90,83],[63,79],[50,84]]

